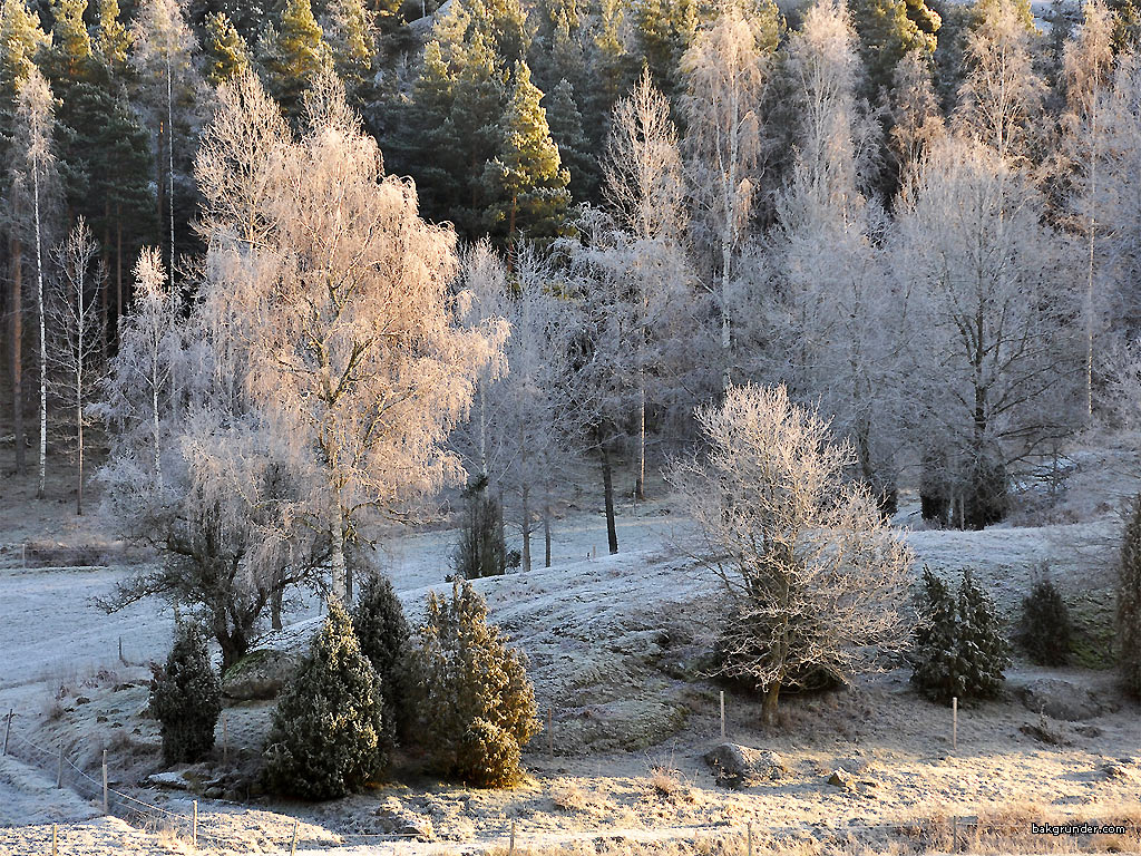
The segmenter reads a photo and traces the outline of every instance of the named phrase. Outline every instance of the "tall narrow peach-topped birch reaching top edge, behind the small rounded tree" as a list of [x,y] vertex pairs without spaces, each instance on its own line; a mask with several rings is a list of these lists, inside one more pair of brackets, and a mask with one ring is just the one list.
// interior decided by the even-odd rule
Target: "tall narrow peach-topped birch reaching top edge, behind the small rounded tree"
[[730,289],[762,173],[761,102],[782,34],[776,5],[763,3],[752,19],[728,5],[698,33],[682,58],[686,95],[683,146],[691,194],[705,242],[717,258],[725,379],[733,374]]

